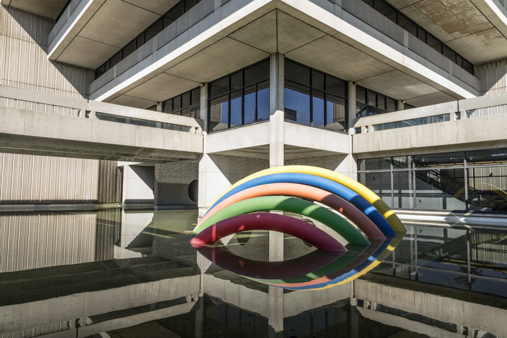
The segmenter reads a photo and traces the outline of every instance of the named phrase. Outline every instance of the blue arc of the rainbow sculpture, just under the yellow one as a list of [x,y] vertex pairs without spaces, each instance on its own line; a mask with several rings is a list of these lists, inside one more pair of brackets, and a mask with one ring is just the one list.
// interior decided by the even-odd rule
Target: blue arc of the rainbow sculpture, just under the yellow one
[[310,174],[301,174],[301,173],[281,173],[281,174],[271,174],[266,176],[261,176],[255,179],[252,179],[248,182],[238,185],[234,189],[227,192],[225,195],[216,200],[213,205],[208,209],[206,214],[213,209],[214,206],[218,205],[224,199],[234,195],[237,192],[242,190],[256,187],[263,184],[271,184],[271,183],[299,183],[305,184],[312,187],[320,188],[322,190],[334,193],[337,196],[342,197],[346,201],[348,201],[351,205],[359,209],[363,214],[365,214],[369,219],[377,225],[380,231],[388,237],[393,237],[396,235],[391,225],[387,222],[387,220],[380,214],[380,212],[370,204],[365,198],[359,195],[357,192],[337,183],[335,181],[329,180],[327,178],[323,178],[320,176],[310,175]]

